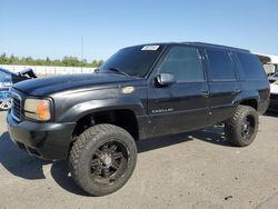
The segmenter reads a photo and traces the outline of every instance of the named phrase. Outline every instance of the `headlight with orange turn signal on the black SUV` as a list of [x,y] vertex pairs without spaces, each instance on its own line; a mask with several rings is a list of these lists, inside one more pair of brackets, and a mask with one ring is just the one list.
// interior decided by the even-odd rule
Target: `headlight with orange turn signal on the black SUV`
[[50,101],[46,99],[27,99],[24,102],[24,116],[39,121],[50,120]]

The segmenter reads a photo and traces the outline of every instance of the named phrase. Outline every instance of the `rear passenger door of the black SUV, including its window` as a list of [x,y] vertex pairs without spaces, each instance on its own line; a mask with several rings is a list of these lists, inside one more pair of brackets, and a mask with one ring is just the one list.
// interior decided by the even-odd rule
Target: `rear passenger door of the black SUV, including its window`
[[236,67],[228,50],[208,48],[203,50],[208,67],[211,109],[211,123],[230,118],[236,109],[234,100],[241,87],[237,79]]

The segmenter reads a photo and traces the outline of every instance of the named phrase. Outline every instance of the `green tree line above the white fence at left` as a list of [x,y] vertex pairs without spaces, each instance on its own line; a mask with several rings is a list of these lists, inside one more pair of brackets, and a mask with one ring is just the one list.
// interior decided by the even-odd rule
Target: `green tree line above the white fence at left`
[[86,59],[79,60],[77,57],[63,57],[60,59],[33,59],[32,57],[16,57],[13,54],[0,54],[0,64],[19,64],[19,66],[61,66],[61,67],[90,67],[98,68],[103,63],[103,60],[92,60],[88,62]]

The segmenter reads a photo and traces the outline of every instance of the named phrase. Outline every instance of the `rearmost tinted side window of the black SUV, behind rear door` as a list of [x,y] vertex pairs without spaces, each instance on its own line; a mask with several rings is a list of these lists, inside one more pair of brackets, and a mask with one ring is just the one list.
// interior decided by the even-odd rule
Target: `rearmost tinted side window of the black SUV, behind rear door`
[[266,72],[258,57],[252,53],[237,52],[240,62],[240,76],[247,80],[266,79]]

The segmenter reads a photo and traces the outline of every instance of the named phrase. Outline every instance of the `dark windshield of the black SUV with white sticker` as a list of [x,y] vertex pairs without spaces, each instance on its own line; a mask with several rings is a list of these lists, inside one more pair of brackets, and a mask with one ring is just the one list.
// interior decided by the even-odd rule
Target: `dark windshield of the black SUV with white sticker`
[[108,59],[99,71],[111,72],[111,69],[117,69],[118,72],[121,71],[131,77],[145,78],[162,49],[162,46],[138,46],[121,49]]

